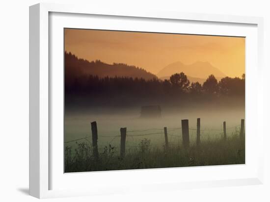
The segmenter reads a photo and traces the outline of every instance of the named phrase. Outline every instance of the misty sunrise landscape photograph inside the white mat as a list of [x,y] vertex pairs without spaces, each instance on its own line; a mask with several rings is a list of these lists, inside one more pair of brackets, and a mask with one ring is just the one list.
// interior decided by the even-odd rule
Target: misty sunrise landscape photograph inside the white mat
[[63,35],[64,173],[245,164],[245,37]]

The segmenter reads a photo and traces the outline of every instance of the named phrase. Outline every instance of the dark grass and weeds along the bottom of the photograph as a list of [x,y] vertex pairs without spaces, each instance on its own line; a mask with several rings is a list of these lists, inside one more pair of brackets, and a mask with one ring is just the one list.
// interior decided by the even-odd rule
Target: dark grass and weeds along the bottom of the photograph
[[99,159],[95,160],[90,143],[77,143],[76,148],[65,147],[65,173],[245,163],[244,140],[238,135],[226,141],[203,141],[200,147],[191,145],[189,149],[181,144],[169,146],[168,151],[164,147],[152,147],[151,140],[145,138],[124,158],[120,157],[117,148],[108,145],[99,151]]

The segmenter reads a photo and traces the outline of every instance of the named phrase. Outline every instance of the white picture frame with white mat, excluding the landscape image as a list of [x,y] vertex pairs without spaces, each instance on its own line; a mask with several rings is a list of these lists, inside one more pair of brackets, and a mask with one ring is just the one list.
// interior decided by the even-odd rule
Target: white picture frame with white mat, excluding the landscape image
[[[71,16],[68,22],[65,19],[67,16]],[[106,18],[101,19],[99,25],[87,25],[87,18],[91,18],[91,16],[95,16],[96,21],[102,16]],[[115,27],[117,25],[113,27],[108,23],[108,25],[105,25],[107,29],[135,30],[135,28],[131,27],[132,25],[134,27],[137,25],[136,30],[141,30],[142,28],[138,25],[143,25],[141,22],[147,21],[145,24],[147,31],[155,29],[155,31],[159,32],[162,30],[162,26],[158,29],[155,23],[160,23],[160,25],[164,26],[168,25],[169,27],[170,21],[173,21],[173,23],[181,21],[186,25],[190,23],[190,25],[196,24],[196,26],[209,27],[208,32],[206,30],[201,30],[201,32],[194,30],[196,34],[238,35],[237,31],[239,29],[240,36],[248,36],[246,47],[246,101],[248,101],[246,103],[245,118],[246,134],[256,134],[256,138],[251,135],[246,138],[246,155],[248,158],[250,157],[250,160],[245,165],[91,172],[91,174],[88,172],[64,175],[62,170],[63,150],[59,148],[59,151],[57,151],[57,145],[62,141],[61,135],[59,137],[50,136],[54,129],[59,129],[61,132],[61,127],[63,127],[61,126],[63,107],[59,107],[63,104],[63,98],[61,97],[57,103],[54,99],[54,91],[59,93],[62,89],[61,71],[58,71],[57,68],[52,68],[56,64],[61,65],[61,62],[63,62],[61,58],[63,54],[63,47],[61,47],[63,41],[61,41],[61,37],[63,36],[61,36],[60,32],[66,25],[74,28],[102,28],[100,26],[102,26],[101,23],[103,21],[113,20],[115,17],[117,17],[116,21],[125,19],[124,21],[128,22],[126,23],[127,25],[125,25],[125,22],[122,22],[121,27],[120,24],[119,27]],[[95,19],[93,19],[93,22]],[[93,27],[94,25],[95,27]],[[128,25],[130,28],[127,28]],[[219,25],[225,25],[228,28],[227,32],[225,32],[225,29],[222,32],[222,26],[220,26],[219,30],[216,30],[215,26]],[[196,26],[194,27],[196,28]],[[245,26],[247,26],[246,29]],[[31,196],[54,198],[140,192],[142,190],[164,191],[166,189],[175,190],[187,187],[217,187],[263,183],[262,18],[156,10],[135,11],[131,9],[122,11],[104,10],[103,8],[92,10],[91,6],[85,5],[39,3],[29,8],[29,27],[29,193]],[[190,28],[188,33],[191,33],[192,26],[188,25],[186,27]],[[163,32],[166,32],[166,30]],[[246,33],[246,35],[241,33]],[[54,52],[53,55],[52,52]],[[250,56],[252,54],[255,56],[251,59]],[[57,58],[56,60],[55,57]],[[249,75],[253,75],[252,80]],[[60,79],[60,81],[55,82],[55,78]],[[52,120],[55,122],[52,123]],[[57,126],[54,127],[55,125]],[[197,176],[196,173],[198,172],[201,172],[203,175]],[[168,175],[170,176],[169,178]],[[189,175],[192,175],[192,177],[187,178]],[[147,178],[150,182],[138,180],[140,177]],[[104,185],[103,181],[99,179],[105,178],[114,180],[114,183]],[[88,179],[91,180],[89,181]],[[127,181],[127,179],[131,182]],[[70,185],[67,182],[70,182]],[[81,182],[81,187],[72,185],[78,182]],[[150,184],[151,186],[149,186]]]

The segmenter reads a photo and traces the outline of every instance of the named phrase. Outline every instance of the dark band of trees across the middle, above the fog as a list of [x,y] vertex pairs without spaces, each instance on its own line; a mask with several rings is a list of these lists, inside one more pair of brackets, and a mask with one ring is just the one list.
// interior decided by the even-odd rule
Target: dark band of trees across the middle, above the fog
[[73,82],[65,83],[66,94],[83,95],[118,95],[136,96],[173,95],[181,96],[240,96],[245,93],[245,75],[239,77],[224,77],[217,81],[214,75],[208,76],[203,84],[190,83],[185,73],[177,73],[169,79],[133,77],[99,77],[94,75],[75,77]]

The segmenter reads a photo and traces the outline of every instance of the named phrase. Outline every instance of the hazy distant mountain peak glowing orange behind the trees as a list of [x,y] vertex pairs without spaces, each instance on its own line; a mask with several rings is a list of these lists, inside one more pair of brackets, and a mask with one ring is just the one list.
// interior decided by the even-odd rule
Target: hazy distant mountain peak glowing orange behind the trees
[[186,75],[195,78],[206,79],[209,75],[216,77],[225,77],[226,75],[212,66],[209,62],[195,62],[190,65],[183,64],[182,62],[175,62],[164,67],[157,76],[159,78],[171,76],[175,73],[184,72]]

